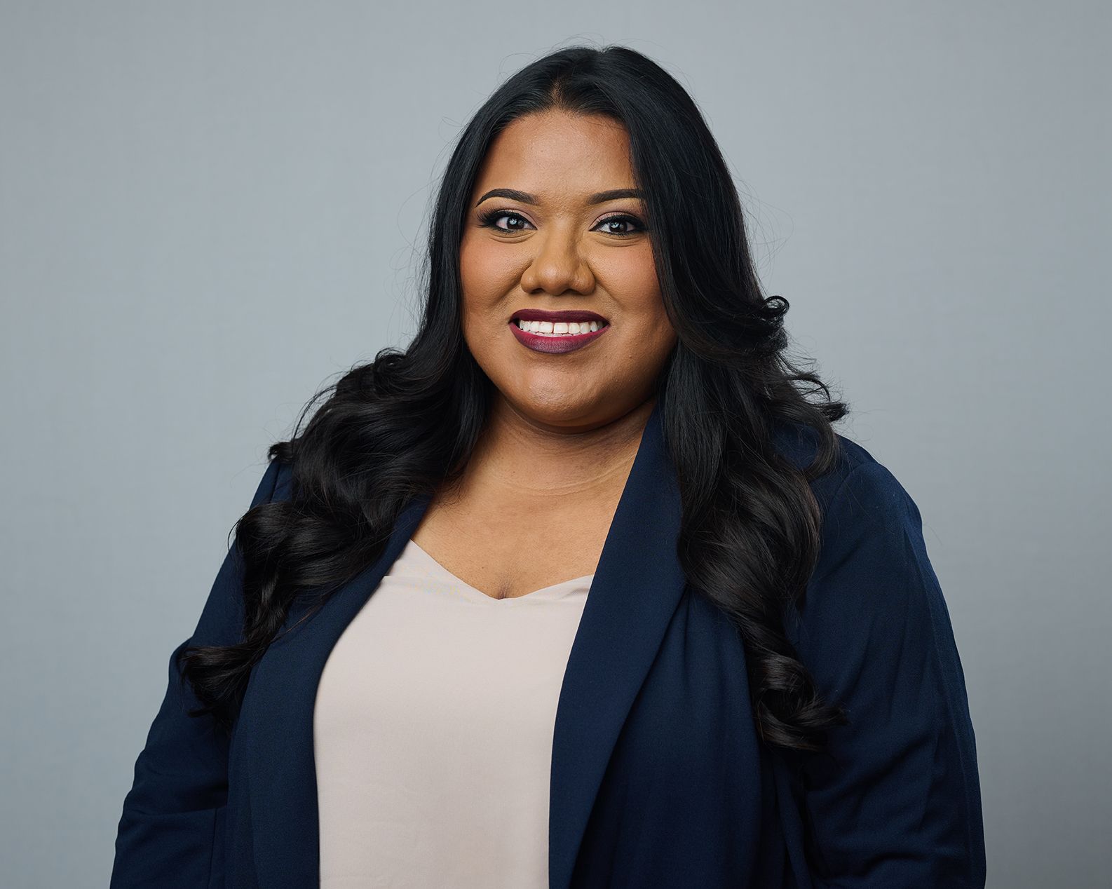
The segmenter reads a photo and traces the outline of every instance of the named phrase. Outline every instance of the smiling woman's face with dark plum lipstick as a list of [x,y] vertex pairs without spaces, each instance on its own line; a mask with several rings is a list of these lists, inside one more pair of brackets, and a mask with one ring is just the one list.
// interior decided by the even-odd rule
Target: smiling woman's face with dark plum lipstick
[[[634,188],[628,151],[609,118],[532,113],[498,135],[476,178],[459,250],[463,333],[535,425],[579,431],[625,415],[654,394],[676,342],[645,205],[599,196]],[[565,338],[575,327],[549,313],[570,314],[564,324],[580,333]]]

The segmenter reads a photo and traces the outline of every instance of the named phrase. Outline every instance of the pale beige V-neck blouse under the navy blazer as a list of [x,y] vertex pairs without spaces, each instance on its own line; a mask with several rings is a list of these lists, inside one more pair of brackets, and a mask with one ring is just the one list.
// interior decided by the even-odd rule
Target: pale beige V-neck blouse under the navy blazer
[[320,676],[326,889],[547,889],[564,669],[594,574],[493,599],[409,541]]

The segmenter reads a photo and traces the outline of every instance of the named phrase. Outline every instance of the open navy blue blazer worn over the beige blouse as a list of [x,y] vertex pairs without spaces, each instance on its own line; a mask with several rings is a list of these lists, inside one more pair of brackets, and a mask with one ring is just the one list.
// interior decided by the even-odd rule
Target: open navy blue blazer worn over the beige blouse
[[[865,448],[812,483],[826,515],[790,638],[851,724],[820,755],[758,743],[745,652],[689,589],[681,510],[649,417],[607,534],[558,699],[549,886],[689,889],[983,887],[976,750],[950,615],[919,508]],[[814,453],[803,427],[777,447]],[[252,505],[289,496],[271,463]],[[318,885],[312,710],[325,661],[416,530],[400,513],[383,555],[255,665],[230,739],[188,683],[169,683],[123,801],[111,877],[125,887]],[[241,560],[229,550],[186,644],[241,632]],[[291,611],[286,626],[300,616]],[[173,654],[177,654],[175,650]]]

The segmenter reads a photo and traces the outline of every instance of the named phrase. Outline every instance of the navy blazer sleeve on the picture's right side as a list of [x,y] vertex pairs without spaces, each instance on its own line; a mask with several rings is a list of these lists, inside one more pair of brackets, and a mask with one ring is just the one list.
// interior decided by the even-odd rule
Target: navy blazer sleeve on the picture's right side
[[983,887],[965,678],[919,507],[882,464],[831,500],[802,614],[800,656],[850,719],[801,760],[813,885]]

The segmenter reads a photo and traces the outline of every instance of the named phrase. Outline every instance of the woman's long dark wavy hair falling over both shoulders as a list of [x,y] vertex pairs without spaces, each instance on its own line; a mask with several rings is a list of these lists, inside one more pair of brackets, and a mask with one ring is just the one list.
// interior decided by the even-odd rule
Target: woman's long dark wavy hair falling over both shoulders
[[[536,111],[604,115],[625,126],[668,317],[678,342],[658,378],[683,503],[677,554],[688,583],[736,624],[757,732],[766,744],[821,750],[845,721],[821,700],[785,636],[785,608],[817,560],[822,516],[808,482],[830,471],[847,412],[785,356],[787,300],[764,297],[737,191],[694,101],[657,63],[620,46],[569,47],[503,83],[464,129],[445,169],[421,269],[424,312],[404,350],[385,348],[319,391],[289,441],[291,495],[237,523],[244,628],[238,644],[181,655],[202,704],[230,728],[251,666],[301,596],[319,608],[381,554],[401,507],[457,480],[493,384],[463,337],[459,245],[479,165],[494,137]],[[812,403],[808,396],[822,393]],[[310,408],[328,396],[306,423]],[[778,424],[816,435],[810,466],[777,453]],[[302,428],[304,426],[304,428]]]

